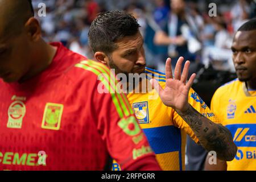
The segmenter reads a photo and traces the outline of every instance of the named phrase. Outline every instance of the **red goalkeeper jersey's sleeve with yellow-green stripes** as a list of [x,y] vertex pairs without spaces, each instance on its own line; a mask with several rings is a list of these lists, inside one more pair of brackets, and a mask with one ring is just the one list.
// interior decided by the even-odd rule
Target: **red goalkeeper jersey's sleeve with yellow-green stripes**
[[[93,106],[97,113],[97,129],[110,156],[120,164],[122,170],[159,170],[155,154],[126,96],[115,89],[116,82],[107,68],[101,68],[104,68],[105,76],[98,77]],[[103,86],[104,93],[97,91],[99,85]]]

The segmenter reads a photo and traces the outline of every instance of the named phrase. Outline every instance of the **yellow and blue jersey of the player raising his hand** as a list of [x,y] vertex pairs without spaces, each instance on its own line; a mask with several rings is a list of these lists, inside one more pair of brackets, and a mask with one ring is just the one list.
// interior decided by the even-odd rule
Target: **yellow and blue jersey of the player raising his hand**
[[[164,88],[166,84],[165,73],[146,68],[148,79],[154,77]],[[188,124],[171,107],[163,104],[156,90],[147,93],[129,93],[127,98],[133,107],[134,113],[142,127],[156,159],[163,170],[181,171],[185,169],[185,144],[188,134],[196,143],[196,138]],[[218,122],[209,107],[191,89],[189,90],[189,104],[197,111],[208,117],[213,122]],[[118,164],[113,164],[113,170],[118,169]]]

